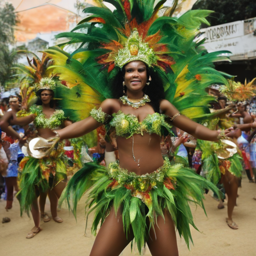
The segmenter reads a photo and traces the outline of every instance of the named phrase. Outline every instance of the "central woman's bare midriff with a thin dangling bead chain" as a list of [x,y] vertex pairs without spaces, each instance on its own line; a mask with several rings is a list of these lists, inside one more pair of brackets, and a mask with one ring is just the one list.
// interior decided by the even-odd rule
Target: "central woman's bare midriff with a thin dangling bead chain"
[[[153,133],[143,133],[133,135],[133,152],[132,156],[132,137],[117,137],[117,147],[119,152],[120,167],[127,169],[128,172],[135,172],[137,175],[150,173],[162,166],[163,158],[160,149],[160,136]],[[138,167],[139,160],[139,167]]]

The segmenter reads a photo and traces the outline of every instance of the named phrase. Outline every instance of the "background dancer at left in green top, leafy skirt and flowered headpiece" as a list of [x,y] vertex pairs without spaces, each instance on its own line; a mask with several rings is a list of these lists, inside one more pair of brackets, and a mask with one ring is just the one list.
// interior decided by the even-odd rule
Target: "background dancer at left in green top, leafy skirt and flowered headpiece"
[[[33,88],[38,96],[38,105],[33,105],[26,116],[4,119],[3,126],[8,124],[26,125],[33,120],[37,129],[37,135],[46,138],[54,135],[53,129],[58,129],[69,125],[71,122],[64,116],[64,112],[55,109],[53,96],[56,83],[50,78],[41,78],[40,82]],[[24,115],[24,111],[22,111]],[[29,151],[29,150],[28,150]],[[59,148],[47,157],[38,158],[37,155],[29,152],[30,156],[25,156],[20,164],[20,212],[27,213],[31,210],[34,220],[34,227],[26,235],[26,238],[33,237],[40,231],[40,211],[38,208],[37,197],[40,195],[41,217],[46,222],[48,215],[44,212],[44,203],[49,191],[51,215],[54,221],[62,222],[57,216],[57,202],[66,184],[66,165],[64,151]],[[36,158],[37,157],[37,158]]]

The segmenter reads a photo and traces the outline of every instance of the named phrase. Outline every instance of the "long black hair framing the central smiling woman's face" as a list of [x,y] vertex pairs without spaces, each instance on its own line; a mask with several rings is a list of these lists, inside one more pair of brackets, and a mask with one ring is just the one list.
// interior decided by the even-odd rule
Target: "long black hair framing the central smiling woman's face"
[[[159,113],[160,100],[164,99],[164,97],[165,97],[163,83],[162,83],[162,80],[160,79],[160,77],[157,75],[157,72],[155,72],[153,70],[153,68],[149,68],[147,66],[147,64],[145,64],[145,65],[146,65],[146,76],[147,76],[146,82],[149,82],[149,80],[148,80],[149,75],[151,76],[151,81],[150,81],[149,85],[145,85],[145,87],[143,88],[143,91],[150,98],[151,105],[152,105],[154,111]],[[123,96],[122,82],[123,82],[123,77],[125,74],[124,67],[125,67],[125,65],[117,73],[117,75],[115,76],[114,81],[113,81],[112,86],[113,86],[113,93],[114,93],[113,97],[114,98],[119,98],[119,97]],[[124,86],[124,90],[126,91],[126,86]]]

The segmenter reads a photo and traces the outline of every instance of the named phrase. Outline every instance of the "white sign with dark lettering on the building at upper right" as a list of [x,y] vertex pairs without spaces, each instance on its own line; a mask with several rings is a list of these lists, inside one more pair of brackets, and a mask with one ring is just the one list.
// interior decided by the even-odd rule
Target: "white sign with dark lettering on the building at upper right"
[[256,18],[201,29],[208,52],[228,50],[231,59],[256,58]]

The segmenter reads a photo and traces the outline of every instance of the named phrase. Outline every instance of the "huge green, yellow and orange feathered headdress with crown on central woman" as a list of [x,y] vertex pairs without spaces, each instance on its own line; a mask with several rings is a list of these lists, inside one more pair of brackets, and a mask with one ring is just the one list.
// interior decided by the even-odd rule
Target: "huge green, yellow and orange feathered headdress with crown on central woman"
[[[221,56],[227,51],[207,53],[199,47],[203,40],[195,39],[201,23],[209,25],[205,17],[212,11],[190,10],[177,18],[169,16],[173,8],[158,15],[165,0],[109,0],[113,11],[102,0],[93,2],[97,6],[85,8],[87,17],[74,29],[56,36],[68,41],[46,50],[54,60],[48,69],[70,88],[60,92],[67,115],[87,117],[92,107],[113,97],[110,84],[120,67],[141,60],[157,72],[165,98],[182,114],[194,120],[207,117],[214,98],[205,88],[227,84],[226,74],[212,63],[228,60]],[[67,53],[63,48],[70,44],[76,50]]]

